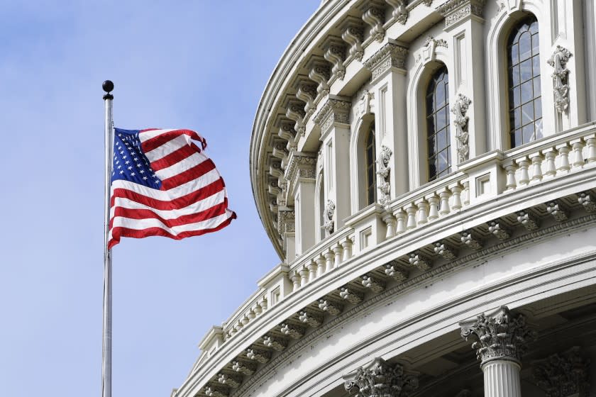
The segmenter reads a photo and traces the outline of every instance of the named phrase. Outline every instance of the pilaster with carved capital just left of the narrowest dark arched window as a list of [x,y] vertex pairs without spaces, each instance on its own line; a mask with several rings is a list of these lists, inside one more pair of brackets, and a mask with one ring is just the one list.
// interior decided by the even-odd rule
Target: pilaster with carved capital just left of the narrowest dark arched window
[[321,128],[325,180],[325,228],[329,234],[343,227],[350,208],[350,109],[351,99],[329,96],[314,122]]

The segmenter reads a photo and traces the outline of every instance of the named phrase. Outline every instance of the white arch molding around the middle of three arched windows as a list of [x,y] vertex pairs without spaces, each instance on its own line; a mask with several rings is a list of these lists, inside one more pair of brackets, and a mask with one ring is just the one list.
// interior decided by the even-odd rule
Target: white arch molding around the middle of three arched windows
[[[453,87],[453,59],[446,51],[446,47],[436,47],[431,43],[430,51],[423,47],[416,53],[420,60],[407,87],[407,125],[408,125],[408,156],[409,156],[409,189],[413,190],[429,181],[428,149],[426,145],[426,89],[433,74],[441,67],[448,70],[449,103],[453,103],[455,92]],[[426,51],[425,51],[426,50]],[[426,58],[424,54],[428,54]],[[449,109],[451,111],[451,108]],[[453,124],[451,125],[453,128]],[[457,158],[455,134],[451,133],[451,159]],[[422,155],[421,155],[422,154]],[[452,164],[453,167],[454,164]]]

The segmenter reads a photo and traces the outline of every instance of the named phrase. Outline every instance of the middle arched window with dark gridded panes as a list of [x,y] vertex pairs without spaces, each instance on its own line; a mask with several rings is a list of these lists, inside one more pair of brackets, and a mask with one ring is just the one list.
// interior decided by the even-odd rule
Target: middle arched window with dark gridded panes
[[429,149],[429,181],[451,172],[449,133],[449,85],[447,67],[438,69],[426,90],[426,144]]

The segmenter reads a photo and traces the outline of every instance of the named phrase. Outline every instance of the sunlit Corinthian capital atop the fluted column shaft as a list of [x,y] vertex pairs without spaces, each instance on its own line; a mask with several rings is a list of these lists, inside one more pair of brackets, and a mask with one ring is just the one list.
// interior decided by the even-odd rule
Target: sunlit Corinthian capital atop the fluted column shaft
[[524,315],[511,313],[507,306],[501,306],[490,315],[482,313],[473,322],[460,325],[465,340],[475,339],[472,348],[481,364],[495,359],[520,363],[528,342],[534,340],[534,332],[528,329]]

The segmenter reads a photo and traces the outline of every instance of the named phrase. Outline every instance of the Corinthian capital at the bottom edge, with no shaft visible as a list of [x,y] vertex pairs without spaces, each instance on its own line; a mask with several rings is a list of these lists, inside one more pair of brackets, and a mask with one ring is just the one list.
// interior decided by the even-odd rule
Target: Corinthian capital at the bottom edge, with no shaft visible
[[407,374],[400,364],[388,364],[376,358],[371,364],[358,368],[343,386],[355,397],[404,397],[418,388],[418,378]]

